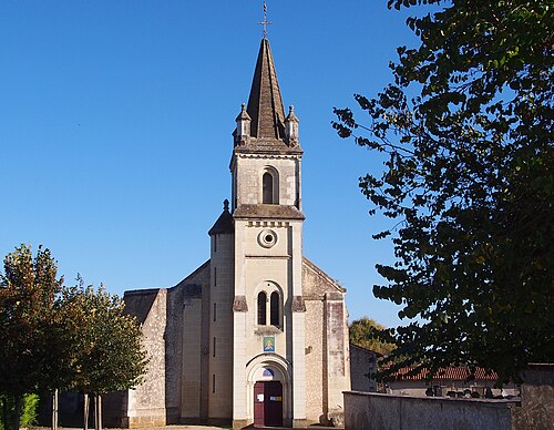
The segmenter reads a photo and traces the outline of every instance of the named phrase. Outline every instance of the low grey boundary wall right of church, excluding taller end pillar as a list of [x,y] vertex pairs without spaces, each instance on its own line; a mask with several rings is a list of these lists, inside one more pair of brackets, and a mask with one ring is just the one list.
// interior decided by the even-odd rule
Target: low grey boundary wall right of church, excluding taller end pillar
[[346,430],[512,429],[515,400],[345,391]]

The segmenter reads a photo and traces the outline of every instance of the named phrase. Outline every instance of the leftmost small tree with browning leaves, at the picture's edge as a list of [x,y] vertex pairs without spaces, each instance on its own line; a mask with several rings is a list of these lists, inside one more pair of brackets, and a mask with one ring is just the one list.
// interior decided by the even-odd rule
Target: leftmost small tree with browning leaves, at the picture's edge
[[4,258],[0,274],[0,393],[13,399],[14,429],[23,395],[48,383],[50,321],[63,284],[57,272],[49,249],[39,247],[33,258],[21,245]]

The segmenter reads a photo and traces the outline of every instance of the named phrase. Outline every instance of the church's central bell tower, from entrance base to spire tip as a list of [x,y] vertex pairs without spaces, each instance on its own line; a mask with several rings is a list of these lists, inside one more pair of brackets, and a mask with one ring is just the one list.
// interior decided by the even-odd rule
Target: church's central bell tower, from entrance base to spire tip
[[301,424],[306,419],[302,150],[299,121],[293,106],[285,115],[265,37],[248,104],[243,104],[236,123],[230,160],[233,422],[235,428],[256,420],[264,424],[256,410],[265,407],[275,408],[277,421],[271,424]]

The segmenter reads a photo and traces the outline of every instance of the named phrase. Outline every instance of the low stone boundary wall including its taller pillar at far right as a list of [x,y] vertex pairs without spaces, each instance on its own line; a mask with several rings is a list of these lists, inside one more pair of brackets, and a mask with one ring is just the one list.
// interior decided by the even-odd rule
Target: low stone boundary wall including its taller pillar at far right
[[521,378],[521,398],[513,400],[347,391],[346,429],[554,429],[554,365],[530,365]]

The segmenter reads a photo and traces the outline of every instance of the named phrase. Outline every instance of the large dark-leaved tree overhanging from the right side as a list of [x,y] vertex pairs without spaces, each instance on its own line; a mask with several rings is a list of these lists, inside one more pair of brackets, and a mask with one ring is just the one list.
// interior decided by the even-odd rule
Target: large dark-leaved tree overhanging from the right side
[[399,345],[389,371],[468,365],[514,379],[554,359],[554,4],[388,4],[414,7],[421,43],[398,49],[375,99],[356,95],[366,124],[343,109],[334,126],[386,158],[360,187],[394,225],[375,236],[392,235],[397,258],[377,265],[388,283],[373,293],[412,319],[381,332]]

